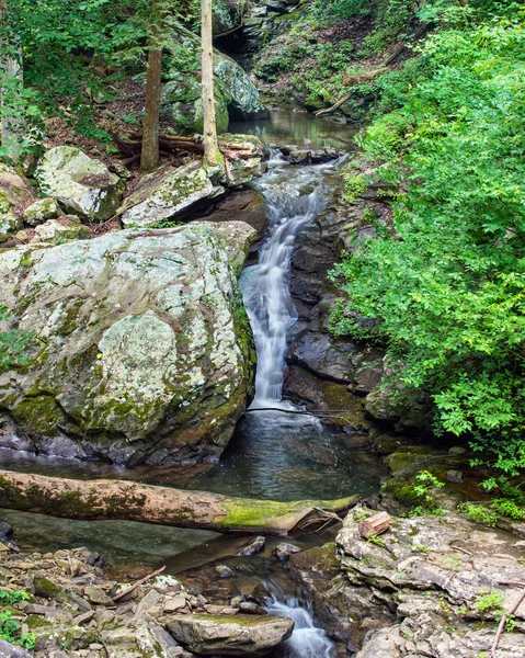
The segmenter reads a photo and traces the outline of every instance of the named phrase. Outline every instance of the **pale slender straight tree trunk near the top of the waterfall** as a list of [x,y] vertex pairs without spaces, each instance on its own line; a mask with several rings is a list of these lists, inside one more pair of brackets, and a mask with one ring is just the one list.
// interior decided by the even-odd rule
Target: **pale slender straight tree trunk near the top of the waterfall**
[[214,45],[212,27],[212,0],[201,0],[201,44],[202,44],[202,86],[203,86],[203,123],[204,123],[204,160],[205,167],[222,164],[222,156],[217,143],[217,124],[215,122],[214,98]]

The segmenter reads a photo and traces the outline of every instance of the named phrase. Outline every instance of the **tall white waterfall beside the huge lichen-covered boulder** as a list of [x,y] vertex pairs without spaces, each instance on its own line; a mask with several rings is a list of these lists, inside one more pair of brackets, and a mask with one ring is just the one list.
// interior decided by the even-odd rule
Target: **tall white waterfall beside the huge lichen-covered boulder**
[[300,228],[327,205],[322,171],[333,163],[294,167],[276,155],[269,168],[259,185],[267,207],[269,237],[259,263],[247,268],[241,277],[258,353],[251,409],[289,407],[282,395],[286,339],[297,319],[288,286],[292,251]]

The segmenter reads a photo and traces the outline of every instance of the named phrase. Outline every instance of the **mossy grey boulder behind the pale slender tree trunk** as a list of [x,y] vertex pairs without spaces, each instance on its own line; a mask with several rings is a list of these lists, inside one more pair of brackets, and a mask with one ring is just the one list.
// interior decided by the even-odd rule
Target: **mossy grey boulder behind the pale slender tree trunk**
[[[162,89],[162,112],[180,129],[202,133],[201,39],[182,25],[175,25],[166,49],[169,57]],[[261,118],[266,115],[249,76],[233,59],[218,50],[214,50],[214,73],[218,133],[228,128],[231,118]]]

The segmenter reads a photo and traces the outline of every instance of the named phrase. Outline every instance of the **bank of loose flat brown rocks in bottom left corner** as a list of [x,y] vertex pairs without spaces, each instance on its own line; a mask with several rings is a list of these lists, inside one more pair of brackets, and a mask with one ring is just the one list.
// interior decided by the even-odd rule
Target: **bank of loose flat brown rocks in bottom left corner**
[[[7,592],[0,606],[19,621],[19,635],[34,634],[35,642],[34,653],[0,644],[0,655],[191,658],[198,650],[258,657],[292,633],[292,620],[213,605],[172,576],[157,576],[136,588],[116,582],[90,566],[92,557],[83,548],[0,554],[0,591]],[[5,603],[10,594],[14,602]]]

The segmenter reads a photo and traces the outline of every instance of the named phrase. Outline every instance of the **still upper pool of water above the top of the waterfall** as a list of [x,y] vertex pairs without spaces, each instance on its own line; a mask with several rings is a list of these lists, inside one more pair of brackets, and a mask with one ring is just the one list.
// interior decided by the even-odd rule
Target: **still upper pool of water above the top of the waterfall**
[[340,124],[329,118],[316,118],[309,112],[290,110],[270,110],[270,117],[260,121],[232,122],[230,133],[255,135],[265,144],[296,144],[351,150],[354,148],[353,136],[357,128]]

